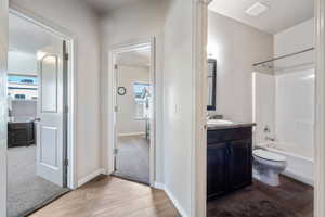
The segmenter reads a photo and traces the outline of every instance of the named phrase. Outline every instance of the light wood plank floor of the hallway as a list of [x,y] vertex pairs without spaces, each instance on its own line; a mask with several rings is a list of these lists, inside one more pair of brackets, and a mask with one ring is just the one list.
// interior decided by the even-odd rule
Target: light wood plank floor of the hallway
[[161,190],[101,176],[30,217],[179,217]]

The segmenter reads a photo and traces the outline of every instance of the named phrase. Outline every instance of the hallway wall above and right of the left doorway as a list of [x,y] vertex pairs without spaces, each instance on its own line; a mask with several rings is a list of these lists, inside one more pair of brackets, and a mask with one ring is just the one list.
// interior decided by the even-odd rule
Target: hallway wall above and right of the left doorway
[[81,179],[101,168],[100,27],[98,15],[78,0],[11,0],[68,29],[77,38],[77,174]]

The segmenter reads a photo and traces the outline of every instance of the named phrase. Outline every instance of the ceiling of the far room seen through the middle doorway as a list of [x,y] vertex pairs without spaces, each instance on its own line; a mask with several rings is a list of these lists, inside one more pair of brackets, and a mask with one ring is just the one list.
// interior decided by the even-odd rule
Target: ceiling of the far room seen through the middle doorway
[[148,67],[151,64],[151,49],[145,48],[121,53],[117,58],[117,64],[138,67]]

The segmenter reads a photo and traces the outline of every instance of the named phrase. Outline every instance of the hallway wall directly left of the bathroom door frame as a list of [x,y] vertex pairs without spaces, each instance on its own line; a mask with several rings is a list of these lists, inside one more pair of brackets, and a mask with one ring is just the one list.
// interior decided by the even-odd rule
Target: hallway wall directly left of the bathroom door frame
[[[182,216],[191,216],[194,149],[193,2],[173,0],[165,24],[165,186]],[[193,199],[194,200],[194,199]]]

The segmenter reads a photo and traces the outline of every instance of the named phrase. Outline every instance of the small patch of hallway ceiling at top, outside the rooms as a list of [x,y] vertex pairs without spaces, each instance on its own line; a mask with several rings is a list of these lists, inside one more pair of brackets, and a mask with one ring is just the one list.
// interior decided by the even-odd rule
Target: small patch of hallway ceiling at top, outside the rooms
[[[83,0],[96,12],[103,14],[143,0]],[[152,0],[153,1],[153,0]]]

